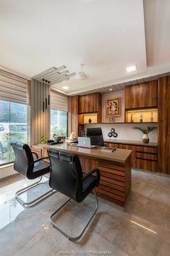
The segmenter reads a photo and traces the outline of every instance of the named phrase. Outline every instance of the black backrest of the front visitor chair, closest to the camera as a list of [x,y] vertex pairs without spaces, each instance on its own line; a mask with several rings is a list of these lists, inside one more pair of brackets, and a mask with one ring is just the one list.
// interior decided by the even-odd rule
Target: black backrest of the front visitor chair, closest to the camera
[[82,168],[76,154],[48,149],[51,162],[49,185],[77,201],[82,193]]

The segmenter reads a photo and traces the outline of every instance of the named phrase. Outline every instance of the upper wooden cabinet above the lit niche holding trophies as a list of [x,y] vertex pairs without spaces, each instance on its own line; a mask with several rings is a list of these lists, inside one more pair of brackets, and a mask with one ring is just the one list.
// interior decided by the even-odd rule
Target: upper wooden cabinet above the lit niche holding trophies
[[158,81],[125,87],[125,109],[158,106]]

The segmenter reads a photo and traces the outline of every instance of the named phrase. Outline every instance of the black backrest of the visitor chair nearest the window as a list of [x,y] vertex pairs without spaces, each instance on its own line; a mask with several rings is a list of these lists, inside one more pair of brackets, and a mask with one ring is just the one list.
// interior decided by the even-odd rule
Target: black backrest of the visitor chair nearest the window
[[27,178],[31,178],[34,168],[34,160],[30,146],[16,141],[12,141],[11,146],[13,147],[15,154],[14,170]]

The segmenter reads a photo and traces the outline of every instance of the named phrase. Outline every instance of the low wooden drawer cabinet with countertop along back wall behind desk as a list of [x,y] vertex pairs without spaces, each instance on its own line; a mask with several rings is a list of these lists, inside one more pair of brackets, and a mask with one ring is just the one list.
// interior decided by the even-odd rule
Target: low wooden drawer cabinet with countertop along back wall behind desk
[[109,147],[116,149],[132,150],[132,168],[158,171],[158,149],[154,146],[137,146],[129,144],[107,143]]

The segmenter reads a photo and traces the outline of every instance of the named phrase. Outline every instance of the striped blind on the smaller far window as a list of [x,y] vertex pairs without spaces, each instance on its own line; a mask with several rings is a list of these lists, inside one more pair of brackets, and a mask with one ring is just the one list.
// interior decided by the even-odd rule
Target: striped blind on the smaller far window
[[51,110],[68,111],[68,96],[51,90]]

